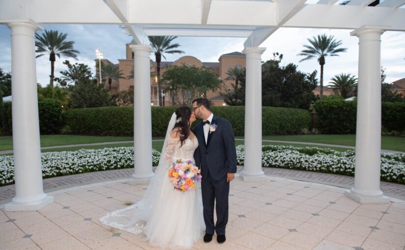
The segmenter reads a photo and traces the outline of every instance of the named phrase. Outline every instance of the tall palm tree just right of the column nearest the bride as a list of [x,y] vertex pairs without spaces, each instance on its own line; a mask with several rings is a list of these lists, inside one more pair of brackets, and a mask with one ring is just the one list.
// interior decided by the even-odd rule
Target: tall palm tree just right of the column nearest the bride
[[152,50],[155,53],[156,60],[156,74],[158,76],[158,100],[159,106],[162,106],[162,85],[161,85],[161,61],[162,56],[164,59],[166,57],[163,53],[174,54],[174,53],[184,53],[182,50],[173,50],[178,48],[179,44],[170,44],[171,41],[176,39],[177,36],[150,36],[149,42],[151,43]]

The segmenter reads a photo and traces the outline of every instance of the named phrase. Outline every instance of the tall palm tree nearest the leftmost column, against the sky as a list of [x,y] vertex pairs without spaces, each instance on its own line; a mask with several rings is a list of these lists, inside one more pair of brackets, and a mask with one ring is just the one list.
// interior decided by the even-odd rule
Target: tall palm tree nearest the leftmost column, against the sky
[[45,30],[45,33],[40,36],[35,33],[35,46],[37,49],[35,52],[40,53],[36,57],[49,54],[49,60],[51,61],[51,79],[49,84],[51,87],[54,87],[54,71],[55,71],[55,60],[57,57],[60,58],[60,55],[66,55],[72,58],[77,59],[76,54],[79,54],[78,50],[73,49],[73,41],[66,41],[67,34],[59,33],[57,30]]

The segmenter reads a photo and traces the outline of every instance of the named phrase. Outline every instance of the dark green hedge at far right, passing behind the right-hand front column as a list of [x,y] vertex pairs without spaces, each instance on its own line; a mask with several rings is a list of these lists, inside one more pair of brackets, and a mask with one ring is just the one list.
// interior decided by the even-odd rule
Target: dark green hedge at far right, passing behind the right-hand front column
[[[316,128],[324,134],[356,132],[357,101],[319,100],[314,108],[318,114]],[[381,123],[386,131],[405,131],[405,102],[382,102]]]

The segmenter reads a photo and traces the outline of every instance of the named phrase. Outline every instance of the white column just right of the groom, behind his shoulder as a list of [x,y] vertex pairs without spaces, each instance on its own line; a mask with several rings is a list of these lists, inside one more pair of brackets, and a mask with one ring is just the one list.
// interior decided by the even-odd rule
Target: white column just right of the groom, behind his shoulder
[[266,180],[262,171],[262,53],[266,48],[245,48],[246,97],[244,116],[244,181]]

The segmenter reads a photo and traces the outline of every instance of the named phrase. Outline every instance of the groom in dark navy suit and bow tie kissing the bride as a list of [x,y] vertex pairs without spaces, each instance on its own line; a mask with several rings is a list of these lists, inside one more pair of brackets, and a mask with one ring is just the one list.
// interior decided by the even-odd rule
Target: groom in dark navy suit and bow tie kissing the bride
[[[236,148],[232,125],[228,120],[215,116],[210,102],[205,98],[192,101],[195,117],[203,122],[194,128],[198,148],[194,152],[196,166],[201,169],[201,193],[204,210],[204,242],[213,239],[224,243],[225,226],[228,223],[229,182],[235,178]],[[214,225],[214,202],[216,224]]]

